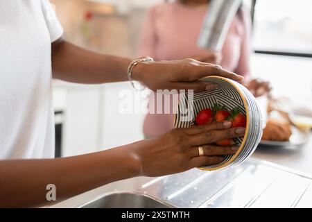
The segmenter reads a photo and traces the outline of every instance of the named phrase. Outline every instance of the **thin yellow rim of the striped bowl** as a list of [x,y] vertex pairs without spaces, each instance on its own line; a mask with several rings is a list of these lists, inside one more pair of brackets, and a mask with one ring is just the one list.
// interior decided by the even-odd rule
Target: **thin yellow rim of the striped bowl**
[[[236,91],[239,93],[239,96],[243,100],[243,105],[244,105],[244,108],[245,108],[245,111],[246,111],[246,117],[247,117],[246,118],[247,119],[247,121],[246,121],[246,130],[245,130],[245,135],[243,137],[243,141],[241,142],[241,146],[239,146],[239,150],[236,151],[236,153],[231,157],[231,159],[229,159],[229,161],[225,162],[225,164],[222,164],[222,165],[220,165],[218,167],[213,167],[213,168],[209,168],[209,169],[207,169],[206,167],[197,167],[198,169],[201,169],[201,170],[204,170],[204,171],[216,171],[218,169],[225,169],[225,168],[229,167],[229,165],[232,164],[232,162],[234,162],[234,160],[236,160],[236,158],[239,156],[239,154],[243,150],[243,146],[245,146],[245,143],[247,141],[247,136],[248,136],[249,128],[250,128],[250,110],[248,109],[248,104],[247,104],[247,101],[246,101],[245,97],[243,96],[243,92],[241,92],[241,89],[239,89],[239,87],[236,85],[236,84],[239,84],[239,83],[236,83],[236,82],[234,82],[234,80],[231,80],[229,78],[225,78],[225,77],[222,77],[222,76],[205,76],[203,78],[200,78],[200,80],[205,80],[206,78],[218,78],[218,79],[225,80],[227,83],[231,84],[236,89]],[[179,105],[180,105],[180,100],[177,103],[177,106],[179,106]],[[173,126],[175,124],[176,116],[177,116],[177,112],[173,116]]]

